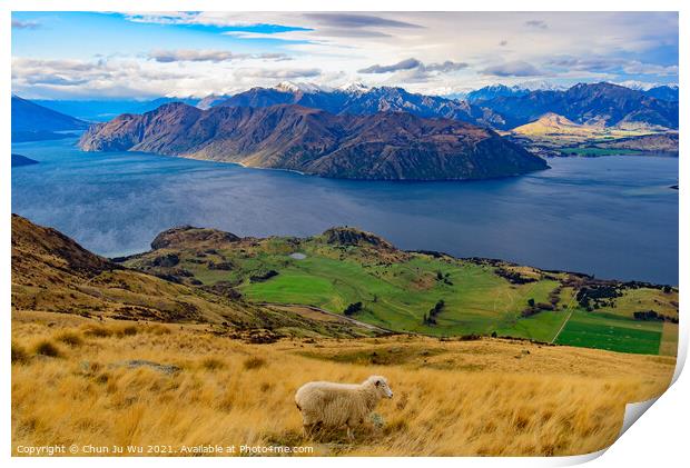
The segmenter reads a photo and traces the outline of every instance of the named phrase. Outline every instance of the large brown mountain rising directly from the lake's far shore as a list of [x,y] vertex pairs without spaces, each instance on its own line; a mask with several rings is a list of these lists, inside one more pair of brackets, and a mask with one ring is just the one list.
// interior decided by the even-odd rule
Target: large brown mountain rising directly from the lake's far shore
[[240,102],[243,107],[209,110],[170,103],[144,114],[122,114],[92,126],[79,146],[86,151],[148,151],[368,180],[483,179],[548,168],[493,130],[459,120]]

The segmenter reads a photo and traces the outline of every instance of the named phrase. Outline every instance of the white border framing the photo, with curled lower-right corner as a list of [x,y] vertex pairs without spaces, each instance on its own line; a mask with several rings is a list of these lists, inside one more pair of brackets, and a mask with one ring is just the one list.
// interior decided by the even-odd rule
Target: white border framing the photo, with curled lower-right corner
[[[38,10],[38,11],[65,11],[65,10],[127,10],[127,11],[170,11],[170,10],[236,10],[236,11],[451,11],[451,10],[465,10],[465,11],[680,11],[680,70],[681,77],[680,96],[681,96],[681,116],[680,116],[680,129],[683,133],[680,138],[682,156],[680,157],[680,179],[683,188],[680,191],[680,239],[688,239],[690,230],[688,223],[690,222],[690,212],[688,211],[688,196],[684,180],[688,175],[689,163],[686,161],[688,157],[688,145],[684,132],[687,125],[687,108],[688,102],[688,89],[686,88],[682,78],[682,73],[686,70],[688,54],[688,48],[686,44],[689,41],[689,21],[690,18],[690,2],[681,0],[654,0],[654,1],[613,1],[613,0],[568,0],[554,2],[553,0],[522,0],[520,2],[511,2],[509,0],[484,0],[482,2],[467,2],[466,4],[454,2],[450,0],[424,0],[423,2],[402,2],[394,0],[332,0],[314,1],[314,0],[292,0],[289,2],[279,0],[254,0],[250,4],[246,2],[231,2],[231,1],[214,1],[214,0],[6,0],[0,4],[0,50],[1,50],[1,63],[3,68],[2,78],[2,92],[1,92],[1,118],[0,118],[0,138],[2,139],[2,148],[4,148],[4,168],[0,171],[0,199],[1,211],[0,222],[3,225],[3,229],[0,230],[0,246],[2,248],[1,263],[0,263],[0,288],[2,290],[2,311],[0,312],[1,320],[1,333],[2,333],[2,354],[0,357],[1,362],[4,365],[1,367],[2,372],[2,387],[1,396],[3,400],[1,436],[4,449],[2,457],[8,458],[6,461],[10,461],[18,466],[36,466],[36,465],[51,465],[51,466],[87,466],[95,462],[102,466],[115,466],[126,464],[127,461],[116,458],[101,458],[97,461],[93,459],[26,459],[26,458],[11,458],[10,457],[10,434],[11,434],[11,419],[10,419],[10,374],[9,369],[9,343],[10,343],[10,188],[11,177],[9,168],[9,149],[10,149],[10,94],[11,94],[11,81],[10,81],[10,11],[11,10]],[[680,252],[680,276],[679,286],[682,291],[688,290],[688,263],[686,260],[688,257],[687,243],[681,242],[679,246]],[[679,466],[681,460],[687,462],[688,460],[688,441],[687,441],[687,428],[688,417],[690,415],[690,402],[687,396],[690,395],[690,382],[687,375],[680,375],[680,370],[686,360],[688,348],[688,322],[684,320],[688,313],[688,307],[686,307],[684,300],[681,301],[681,320],[680,320],[680,342],[679,342],[679,365],[676,370],[674,378],[678,379],[674,385],[653,405],[654,409],[645,414],[640,421],[635,422],[605,454],[605,456],[592,461],[592,466],[625,466],[629,467],[645,467],[652,466]],[[687,374],[687,372],[686,372]],[[680,378],[679,378],[680,376]],[[603,452],[603,451],[602,451]],[[206,465],[206,466],[227,466],[227,464],[241,464],[246,466],[322,466],[324,462],[328,466],[352,466],[352,464],[365,464],[374,465],[381,462],[395,462],[402,466],[413,466],[417,464],[437,464],[443,466],[459,466],[459,465],[473,465],[473,466],[564,466],[584,462],[586,460],[597,458],[599,454],[592,454],[581,457],[563,457],[563,458],[405,458],[405,459],[381,459],[368,458],[357,459],[352,458],[327,458],[327,459],[276,459],[276,458],[254,458],[254,459],[137,459],[131,462],[146,464],[150,466],[184,466],[189,464]]]

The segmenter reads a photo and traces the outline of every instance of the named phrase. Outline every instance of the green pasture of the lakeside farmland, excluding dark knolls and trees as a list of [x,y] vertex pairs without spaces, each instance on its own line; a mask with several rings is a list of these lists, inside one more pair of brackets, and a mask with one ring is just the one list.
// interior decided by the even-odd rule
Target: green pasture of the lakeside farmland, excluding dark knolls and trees
[[[209,250],[185,246],[184,249],[152,251],[127,265],[149,268],[146,265],[150,265],[152,258],[172,251],[180,258],[177,268],[191,272],[196,280],[205,285],[230,281],[250,301],[309,305],[338,313],[349,303],[361,301],[364,309],[355,315],[358,320],[396,331],[432,336],[495,331],[499,336],[550,342],[570,318],[558,342],[628,352],[657,354],[661,341],[661,323],[635,321],[633,311],[653,308],[672,316],[670,309],[677,310],[677,291],[664,295],[641,288],[625,289],[624,296],[618,298],[610,310],[583,312],[573,300],[573,288],[562,287],[558,310],[523,318],[521,312],[529,299],[548,302],[549,295],[568,275],[499,263],[538,279],[512,285],[496,275],[495,265],[486,262],[331,245],[319,237],[252,239],[217,247]],[[306,258],[290,258],[294,252],[302,252]],[[208,268],[209,261],[229,262],[231,268],[213,270]],[[249,279],[269,270],[278,275],[264,281]],[[443,280],[437,278],[438,273]],[[445,308],[437,316],[437,325],[423,323],[424,313],[441,299]],[[603,312],[619,317],[612,321]],[[642,331],[631,340],[625,338],[629,330]],[[586,337],[588,333],[591,336]]]

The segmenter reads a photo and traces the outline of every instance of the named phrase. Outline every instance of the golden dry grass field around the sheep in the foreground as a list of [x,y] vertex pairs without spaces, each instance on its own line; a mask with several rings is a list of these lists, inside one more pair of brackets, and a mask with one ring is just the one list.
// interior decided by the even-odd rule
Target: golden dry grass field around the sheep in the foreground
[[[102,327],[110,333],[92,333]],[[618,435],[625,402],[661,394],[674,359],[483,339],[283,340],[199,327],[96,323],[14,312],[12,449],[20,445],[287,445],[315,455],[574,455]],[[166,331],[161,331],[161,328]],[[78,346],[60,341],[72,333]],[[59,356],[37,356],[52,343]],[[68,340],[73,341],[73,340]],[[128,360],[179,367],[166,374]],[[372,362],[384,362],[374,365]],[[381,429],[305,440],[295,390],[309,380],[386,376]]]

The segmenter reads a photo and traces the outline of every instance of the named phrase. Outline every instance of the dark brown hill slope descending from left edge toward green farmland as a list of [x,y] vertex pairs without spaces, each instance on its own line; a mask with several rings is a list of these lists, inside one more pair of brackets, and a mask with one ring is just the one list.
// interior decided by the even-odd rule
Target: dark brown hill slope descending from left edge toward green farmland
[[[169,261],[169,259],[168,259]],[[166,273],[168,279],[172,278]],[[174,269],[185,276],[181,269]],[[371,330],[325,322],[134,271],[83,249],[61,232],[12,215],[12,309],[164,322],[224,323],[230,331],[363,336]]]

